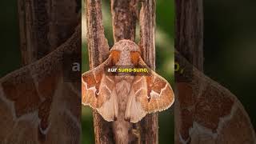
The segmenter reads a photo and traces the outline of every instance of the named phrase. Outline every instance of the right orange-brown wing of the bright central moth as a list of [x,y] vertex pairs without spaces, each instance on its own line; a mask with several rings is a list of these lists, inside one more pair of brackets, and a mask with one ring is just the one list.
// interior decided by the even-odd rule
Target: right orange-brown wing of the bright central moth
[[[146,66],[142,58],[139,65]],[[147,69],[150,69],[147,67]],[[126,109],[126,119],[139,122],[146,114],[168,109],[174,103],[174,92],[165,78],[150,70],[149,75],[136,75]]]

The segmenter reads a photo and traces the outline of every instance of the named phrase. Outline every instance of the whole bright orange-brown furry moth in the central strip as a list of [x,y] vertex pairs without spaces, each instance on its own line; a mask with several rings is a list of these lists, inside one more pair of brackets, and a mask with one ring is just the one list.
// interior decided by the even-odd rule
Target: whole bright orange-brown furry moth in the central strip
[[105,74],[105,68],[110,66],[146,64],[138,46],[122,40],[114,44],[105,62],[82,74],[82,104],[97,110],[106,121],[115,121],[115,137],[122,139],[118,143],[126,143],[128,123],[168,109],[174,102],[174,93],[170,84],[152,70],[149,75]]

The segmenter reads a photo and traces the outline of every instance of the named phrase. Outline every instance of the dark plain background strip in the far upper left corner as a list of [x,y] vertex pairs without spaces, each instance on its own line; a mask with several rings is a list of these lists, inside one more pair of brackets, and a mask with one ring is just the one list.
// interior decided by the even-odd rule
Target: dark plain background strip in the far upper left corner
[[0,78],[2,78],[11,71],[17,70],[22,64],[17,0],[1,2],[0,18]]

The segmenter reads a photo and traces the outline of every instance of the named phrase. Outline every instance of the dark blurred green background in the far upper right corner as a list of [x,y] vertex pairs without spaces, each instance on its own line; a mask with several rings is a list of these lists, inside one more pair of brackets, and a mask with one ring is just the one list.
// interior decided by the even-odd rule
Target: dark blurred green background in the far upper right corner
[[242,102],[256,126],[256,1],[204,2],[204,70]]

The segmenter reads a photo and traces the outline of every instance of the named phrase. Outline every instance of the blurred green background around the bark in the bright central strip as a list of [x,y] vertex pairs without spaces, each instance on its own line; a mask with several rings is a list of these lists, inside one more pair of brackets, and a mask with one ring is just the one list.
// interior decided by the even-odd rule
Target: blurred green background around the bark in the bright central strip
[[[82,7],[84,3],[82,0]],[[110,1],[102,1],[102,17],[105,35],[110,47],[114,45],[110,13]],[[156,28],[156,72],[166,78],[174,86],[174,1],[157,2]],[[136,42],[139,41],[137,26]],[[82,10],[82,71],[89,70],[86,47],[86,15]],[[174,142],[174,108],[159,114],[159,143]],[[92,110],[82,106],[82,144],[94,143],[94,127]]]

